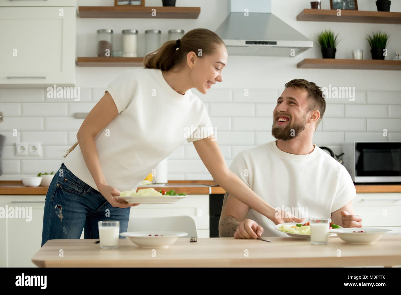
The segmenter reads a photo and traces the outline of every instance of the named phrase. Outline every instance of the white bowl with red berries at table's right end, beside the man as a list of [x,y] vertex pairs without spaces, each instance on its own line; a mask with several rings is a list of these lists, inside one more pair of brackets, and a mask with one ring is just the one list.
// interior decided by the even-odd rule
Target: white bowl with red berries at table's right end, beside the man
[[[363,231],[363,232],[360,232]],[[337,234],[338,238],[349,244],[373,244],[386,232],[384,228],[333,228],[329,230],[331,233]]]

